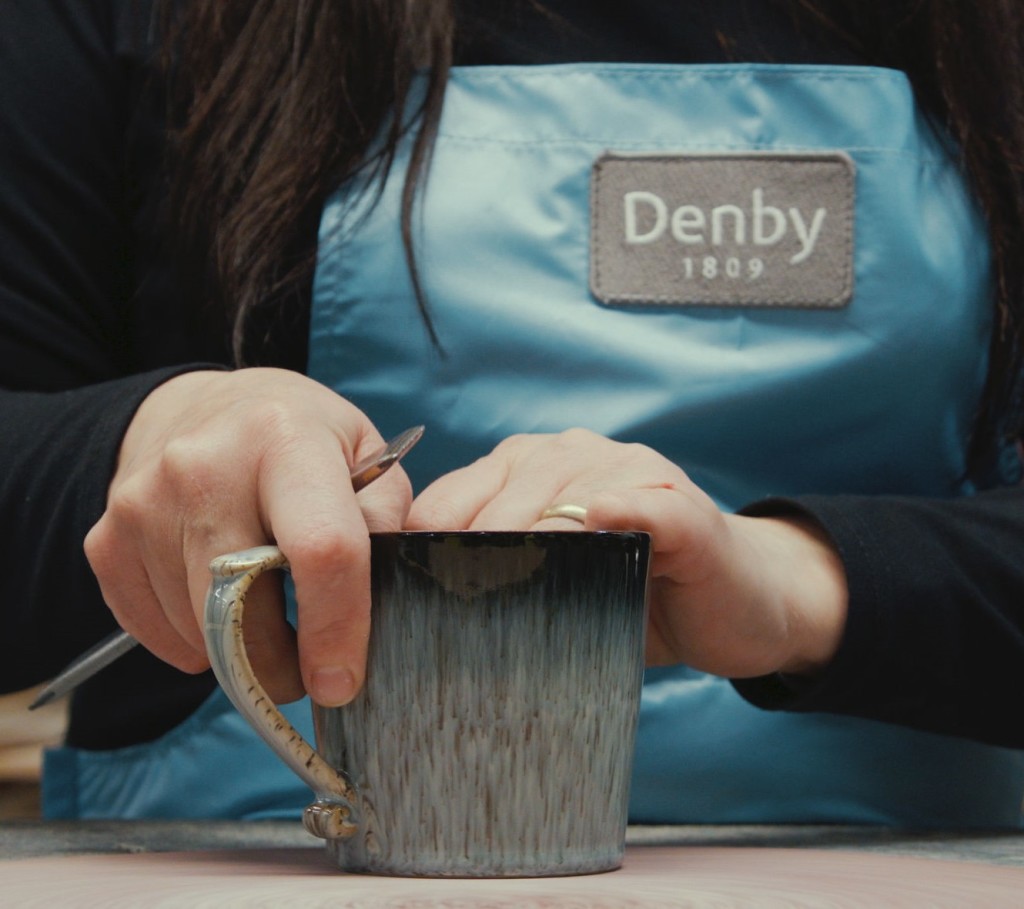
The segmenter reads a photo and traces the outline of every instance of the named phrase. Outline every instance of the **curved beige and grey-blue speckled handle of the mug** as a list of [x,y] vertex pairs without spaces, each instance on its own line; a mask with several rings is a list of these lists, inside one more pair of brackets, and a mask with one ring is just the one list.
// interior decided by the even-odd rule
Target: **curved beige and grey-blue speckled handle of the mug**
[[229,553],[210,563],[213,580],[204,616],[207,653],[231,703],[315,793],[315,800],[303,812],[303,826],[323,839],[344,839],[356,831],[352,820],[358,804],[355,788],[285,719],[259,684],[246,654],[242,633],[246,593],[271,568],[288,569],[288,560],[275,546]]

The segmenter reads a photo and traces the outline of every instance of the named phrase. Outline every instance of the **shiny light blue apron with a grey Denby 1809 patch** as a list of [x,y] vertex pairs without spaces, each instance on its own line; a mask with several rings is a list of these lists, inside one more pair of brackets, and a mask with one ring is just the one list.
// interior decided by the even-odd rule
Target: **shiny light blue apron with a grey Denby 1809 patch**
[[[617,174],[680,163],[703,196],[670,200],[671,177],[663,194],[623,193],[615,214]],[[776,166],[797,196],[765,182]],[[830,188],[815,207],[817,173]],[[656,448],[727,510],[768,494],[973,491],[988,248],[902,74],[456,70],[415,219],[443,353],[402,258],[401,178],[376,206],[346,187],[325,211],[309,375],[385,435],[427,425],[407,465],[418,489],[509,434],[586,426]],[[616,283],[648,250],[652,264]],[[806,280],[758,290],[798,264]],[[827,289],[804,299],[819,279]],[[306,709],[289,712],[308,732]],[[289,776],[216,693],[152,745],[51,752],[46,810],[297,814],[308,793]],[[760,711],[684,666],[647,675],[635,822],[1017,826],[1022,792],[1017,751]]]

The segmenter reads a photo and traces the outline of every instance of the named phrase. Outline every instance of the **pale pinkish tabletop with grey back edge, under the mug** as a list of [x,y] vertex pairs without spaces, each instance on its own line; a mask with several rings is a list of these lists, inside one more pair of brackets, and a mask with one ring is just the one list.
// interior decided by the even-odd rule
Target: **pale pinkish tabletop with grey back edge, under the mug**
[[296,822],[0,824],[5,909],[1020,909],[1024,833],[632,827],[616,871],[344,874]]

